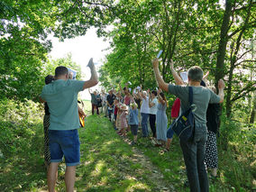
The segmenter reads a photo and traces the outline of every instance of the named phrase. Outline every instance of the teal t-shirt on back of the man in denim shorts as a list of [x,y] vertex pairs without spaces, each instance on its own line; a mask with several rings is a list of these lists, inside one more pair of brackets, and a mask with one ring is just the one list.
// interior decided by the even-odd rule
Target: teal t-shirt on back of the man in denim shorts
[[41,97],[50,108],[50,130],[78,129],[78,92],[84,83],[59,79],[43,87]]

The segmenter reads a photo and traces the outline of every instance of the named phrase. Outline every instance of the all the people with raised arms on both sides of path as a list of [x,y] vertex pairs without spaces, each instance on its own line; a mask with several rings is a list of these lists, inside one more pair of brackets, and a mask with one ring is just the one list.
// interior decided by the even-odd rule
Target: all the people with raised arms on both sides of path
[[[104,91],[89,90],[92,103],[92,114],[101,113],[114,123],[116,133],[126,137],[128,132],[133,134],[131,145],[137,145],[141,137],[149,138],[156,147],[163,147],[168,152],[173,138],[171,123],[175,122],[188,105],[188,87],[193,87],[195,109],[195,132],[193,141],[179,140],[187,169],[187,178],[191,191],[208,191],[206,169],[213,169],[213,176],[217,172],[216,134],[220,125],[220,105],[224,100],[224,81],[220,80],[218,96],[215,87],[208,87],[207,76],[203,77],[203,70],[195,66],[187,71],[188,82],[182,80],[173,67],[171,73],[175,79],[175,86],[167,84],[160,76],[159,61],[152,61],[153,70],[159,87],[155,90],[144,87],[133,87],[128,82],[118,90]],[[79,164],[78,139],[78,92],[97,84],[97,76],[92,59],[88,67],[92,76],[88,81],[71,80],[68,69],[58,67],[55,77],[46,78],[46,86],[41,93],[41,101],[45,102],[45,160],[49,165],[48,186],[54,191],[58,175],[58,165],[64,155],[67,165],[65,183],[67,191],[73,191],[76,166]],[[169,106],[164,92],[177,96],[171,106],[171,122],[168,122],[166,110]],[[65,102],[66,105],[63,105]],[[85,116],[85,114],[84,114]],[[72,120],[72,121],[70,121]],[[170,124],[168,128],[168,124]],[[138,131],[141,133],[138,137]],[[71,141],[67,136],[72,134]],[[70,137],[69,137],[70,140]],[[68,144],[71,144],[68,146]],[[50,149],[47,151],[47,149]]]

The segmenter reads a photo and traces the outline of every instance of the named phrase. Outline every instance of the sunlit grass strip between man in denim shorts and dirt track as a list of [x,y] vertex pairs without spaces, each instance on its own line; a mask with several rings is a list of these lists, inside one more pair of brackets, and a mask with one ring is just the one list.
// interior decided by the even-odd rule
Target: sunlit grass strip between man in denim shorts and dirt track
[[79,131],[77,191],[175,191],[141,150],[115,133],[108,119],[91,115],[86,123]]

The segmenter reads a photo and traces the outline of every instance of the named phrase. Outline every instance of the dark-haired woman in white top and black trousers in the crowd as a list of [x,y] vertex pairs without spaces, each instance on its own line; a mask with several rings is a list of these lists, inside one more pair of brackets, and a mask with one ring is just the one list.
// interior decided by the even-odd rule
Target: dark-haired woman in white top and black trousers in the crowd
[[151,132],[153,133],[153,137],[156,138],[156,114],[158,111],[158,99],[157,92],[151,91],[151,96],[149,98],[149,106],[150,106],[150,124],[151,124]]

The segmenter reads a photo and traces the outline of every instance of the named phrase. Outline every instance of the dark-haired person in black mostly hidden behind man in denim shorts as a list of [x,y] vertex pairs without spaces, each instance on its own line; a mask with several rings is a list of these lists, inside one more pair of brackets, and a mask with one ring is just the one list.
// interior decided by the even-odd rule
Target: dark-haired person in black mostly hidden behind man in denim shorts
[[[45,77],[45,85],[50,84],[54,80],[54,77],[51,75],[48,75]],[[44,164],[46,166],[46,169],[48,169],[50,165],[50,150],[49,150],[49,137],[48,137],[48,129],[50,125],[50,111],[49,106],[47,103],[44,103],[44,116],[43,116],[43,133],[44,133],[44,148],[43,148],[43,154],[44,154]]]

